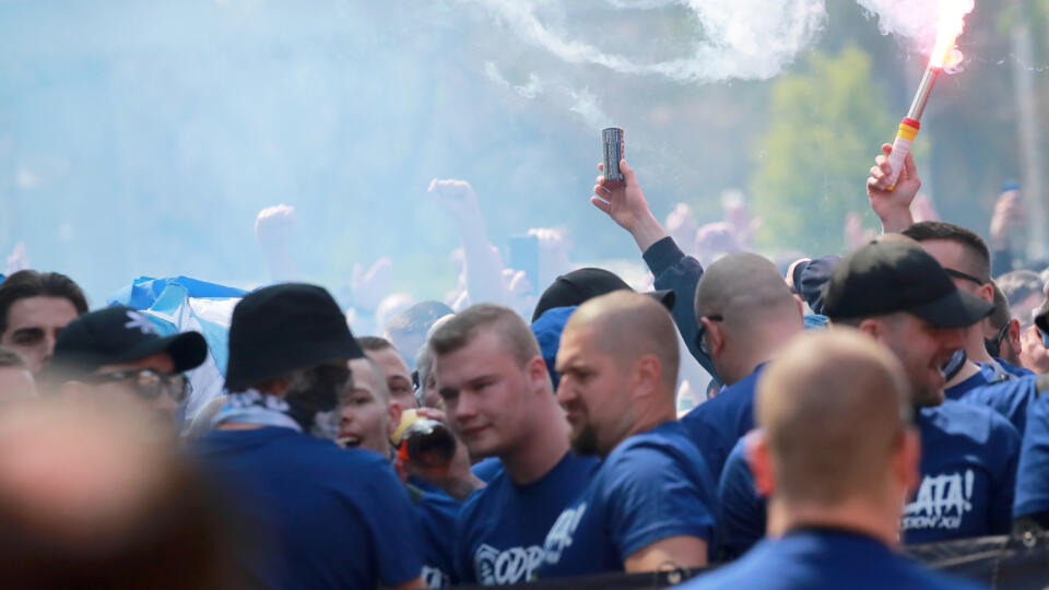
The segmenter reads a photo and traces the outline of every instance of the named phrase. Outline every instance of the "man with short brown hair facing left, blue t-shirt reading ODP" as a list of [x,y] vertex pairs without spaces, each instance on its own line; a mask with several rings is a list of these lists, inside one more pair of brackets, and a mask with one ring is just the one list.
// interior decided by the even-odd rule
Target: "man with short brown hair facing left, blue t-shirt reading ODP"
[[459,514],[458,579],[524,582],[539,567],[546,532],[597,461],[568,450],[568,425],[539,344],[512,310],[470,307],[431,335],[429,350],[448,423],[472,456],[502,465]]

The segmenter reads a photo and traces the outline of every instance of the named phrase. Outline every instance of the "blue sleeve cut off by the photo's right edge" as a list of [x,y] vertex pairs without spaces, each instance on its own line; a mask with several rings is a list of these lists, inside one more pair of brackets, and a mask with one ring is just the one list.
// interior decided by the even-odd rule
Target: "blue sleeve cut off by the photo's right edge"
[[1013,516],[1045,511],[1049,511],[1049,397],[1039,398],[1027,417],[1016,470]]

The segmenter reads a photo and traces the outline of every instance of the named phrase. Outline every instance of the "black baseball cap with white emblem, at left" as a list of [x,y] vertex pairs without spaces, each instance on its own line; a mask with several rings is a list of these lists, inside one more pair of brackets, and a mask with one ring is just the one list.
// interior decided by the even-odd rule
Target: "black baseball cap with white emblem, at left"
[[106,365],[130,363],[167,353],[175,373],[199,367],[208,356],[208,342],[199,332],[161,335],[142,311],[114,306],[91,311],[69,322],[58,334],[48,373],[71,379]]

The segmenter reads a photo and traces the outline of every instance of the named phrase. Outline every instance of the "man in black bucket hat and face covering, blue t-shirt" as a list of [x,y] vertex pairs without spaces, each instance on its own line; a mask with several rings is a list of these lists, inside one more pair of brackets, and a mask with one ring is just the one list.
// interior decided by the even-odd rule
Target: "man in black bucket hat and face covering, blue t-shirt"
[[346,362],[363,356],[321,287],[264,287],[234,308],[227,402],[191,453],[252,540],[233,547],[240,585],[424,588],[419,519],[389,460],[334,444]]

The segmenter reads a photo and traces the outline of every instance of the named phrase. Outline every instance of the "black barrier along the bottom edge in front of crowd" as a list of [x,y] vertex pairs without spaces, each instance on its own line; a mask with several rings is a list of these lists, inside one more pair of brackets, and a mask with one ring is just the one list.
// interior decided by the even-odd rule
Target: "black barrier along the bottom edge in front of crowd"
[[[1003,590],[1049,588],[1049,534],[983,536],[946,543],[910,545],[905,552],[928,567]],[[671,588],[705,569],[651,574],[606,574],[582,578],[520,583],[504,588],[528,590],[659,590]],[[480,589],[482,587],[462,587]]]

